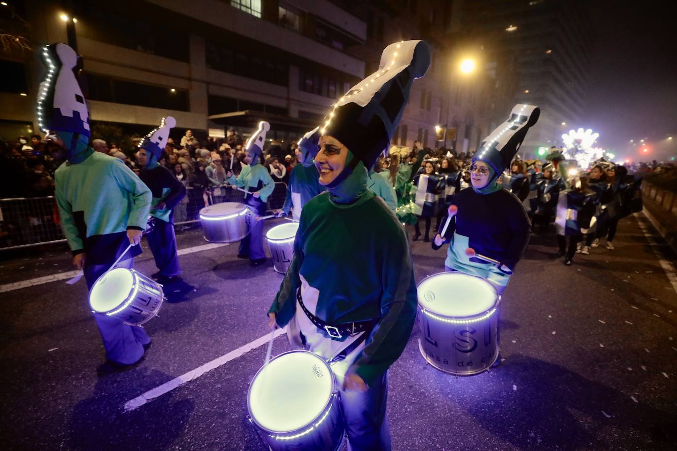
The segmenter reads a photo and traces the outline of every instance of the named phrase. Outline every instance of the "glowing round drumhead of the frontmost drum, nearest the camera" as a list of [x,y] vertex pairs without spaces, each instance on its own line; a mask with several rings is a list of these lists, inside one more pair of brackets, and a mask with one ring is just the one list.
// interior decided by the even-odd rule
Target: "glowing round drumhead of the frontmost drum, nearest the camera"
[[322,413],[333,387],[331,369],[317,354],[286,352],[255,376],[249,387],[249,413],[268,431],[297,431]]

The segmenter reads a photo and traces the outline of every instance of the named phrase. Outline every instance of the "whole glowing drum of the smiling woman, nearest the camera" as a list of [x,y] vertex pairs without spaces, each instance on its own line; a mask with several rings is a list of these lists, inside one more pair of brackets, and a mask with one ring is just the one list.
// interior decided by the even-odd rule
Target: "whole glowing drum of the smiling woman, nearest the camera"
[[343,443],[336,378],[313,352],[271,358],[249,386],[247,408],[271,450],[338,450]]

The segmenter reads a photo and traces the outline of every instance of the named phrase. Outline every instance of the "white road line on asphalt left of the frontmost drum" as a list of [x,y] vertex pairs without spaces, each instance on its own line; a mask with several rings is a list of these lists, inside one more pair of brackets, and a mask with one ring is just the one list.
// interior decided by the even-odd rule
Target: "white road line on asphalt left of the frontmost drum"
[[[284,329],[277,329],[275,333],[272,334],[273,339],[275,339],[275,337],[279,337],[283,333]],[[123,411],[131,412],[132,410],[135,410],[143,406],[147,402],[152,401],[155,398],[158,398],[164,394],[167,394],[169,393],[169,391],[172,391],[175,388],[181,387],[181,385],[185,384],[186,382],[193,381],[194,379],[197,379],[198,377],[204,375],[204,373],[208,373],[213,369],[217,369],[219,368],[219,366],[226,364],[231,360],[235,360],[236,358],[246,354],[250,350],[265,345],[265,343],[267,343],[270,339],[271,334],[267,333],[263,335],[263,337],[259,337],[254,341],[250,341],[249,343],[246,343],[246,345],[240,346],[240,348],[236,350],[232,350],[231,352],[228,352],[227,354],[224,354],[221,357],[215,358],[211,362],[206,362],[204,365],[198,366],[198,368],[192,371],[188,371],[188,373],[180,375],[179,377],[175,377],[171,381],[165,382],[162,385],[158,385],[158,387],[146,391],[146,393],[137,396],[133,400],[125,402],[125,404],[123,405]]]

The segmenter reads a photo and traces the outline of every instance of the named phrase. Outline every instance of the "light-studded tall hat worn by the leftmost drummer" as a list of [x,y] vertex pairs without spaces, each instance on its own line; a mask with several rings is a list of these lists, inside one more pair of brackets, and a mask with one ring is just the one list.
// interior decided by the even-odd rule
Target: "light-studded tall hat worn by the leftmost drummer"
[[48,68],[40,84],[37,118],[43,132],[59,130],[89,137],[89,112],[75,71],[82,62],[68,45],[45,45],[41,52]]

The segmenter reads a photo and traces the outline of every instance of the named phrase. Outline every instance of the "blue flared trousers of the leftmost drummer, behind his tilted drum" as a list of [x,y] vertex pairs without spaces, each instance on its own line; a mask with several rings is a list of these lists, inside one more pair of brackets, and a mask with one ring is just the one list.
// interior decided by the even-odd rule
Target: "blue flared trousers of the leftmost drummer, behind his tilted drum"
[[[96,280],[110,268],[114,261],[111,260],[108,264],[85,264],[83,272],[88,289],[91,290]],[[134,267],[134,259],[123,260],[117,264],[117,267],[131,269]],[[143,327],[130,326],[117,318],[101,313],[93,313],[93,315],[104,341],[108,360],[124,365],[141,360],[144,356],[144,345],[150,343],[150,337]]]

